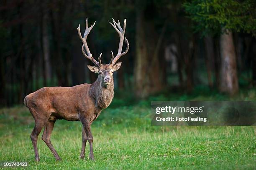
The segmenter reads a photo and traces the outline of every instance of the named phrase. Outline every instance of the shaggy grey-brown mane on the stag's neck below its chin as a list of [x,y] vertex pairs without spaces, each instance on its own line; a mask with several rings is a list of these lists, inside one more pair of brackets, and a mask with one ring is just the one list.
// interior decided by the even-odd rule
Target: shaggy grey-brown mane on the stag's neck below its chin
[[[112,77],[113,80],[113,77]],[[90,96],[95,100],[95,107],[98,110],[105,109],[110,105],[114,97],[114,83],[110,82],[109,85],[102,83],[100,75],[97,80],[92,83],[90,87]]]

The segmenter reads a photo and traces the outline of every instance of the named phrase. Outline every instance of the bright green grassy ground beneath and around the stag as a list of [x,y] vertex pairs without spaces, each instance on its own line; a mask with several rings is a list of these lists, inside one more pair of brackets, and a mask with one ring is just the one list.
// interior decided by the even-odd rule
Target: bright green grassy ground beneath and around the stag
[[[204,95],[207,94],[207,95]],[[79,160],[81,124],[58,120],[51,142],[62,161],[38,140],[34,162],[29,135],[33,117],[22,106],[0,110],[0,161],[28,162],[25,169],[256,169],[256,128],[151,126],[150,100],[256,100],[256,90],[229,98],[198,90],[195,95],[158,95],[132,103],[116,97],[92,124],[95,161]],[[132,98],[132,97],[131,97]],[[3,167],[1,167],[3,168]],[[7,168],[8,169],[8,168]]]

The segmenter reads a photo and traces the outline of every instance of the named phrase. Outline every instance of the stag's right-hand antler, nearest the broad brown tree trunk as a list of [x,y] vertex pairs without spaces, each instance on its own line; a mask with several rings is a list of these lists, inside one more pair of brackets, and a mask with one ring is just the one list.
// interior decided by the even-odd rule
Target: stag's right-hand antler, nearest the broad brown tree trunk
[[[112,18],[113,19],[113,18]],[[109,22],[110,23],[110,22]],[[110,23],[113,28],[115,28],[115,30],[118,32],[118,35],[120,37],[120,41],[119,41],[119,48],[118,48],[118,54],[115,56],[114,58],[114,55],[113,55],[113,52],[112,52],[112,58],[111,58],[111,61],[110,61],[110,65],[114,65],[118,59],[125,55],[128,50],[129,50],[129,42],[128,40],[124,37],[124,34],[125,34],[125,27],[126,27],[126,20],[124,20],[124,23],[123,23],[123,29],[121,28],[121,25],[120,25],[120,22],[118,20],[118,23],[115,22],[115,20],[113,19],[113,24]],[[125,43],[126,43],[126,50],[122,53],[122,48],[123,48],[123,39],[125,39]]]

